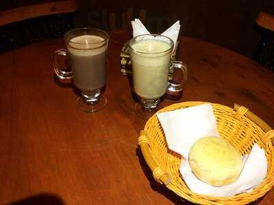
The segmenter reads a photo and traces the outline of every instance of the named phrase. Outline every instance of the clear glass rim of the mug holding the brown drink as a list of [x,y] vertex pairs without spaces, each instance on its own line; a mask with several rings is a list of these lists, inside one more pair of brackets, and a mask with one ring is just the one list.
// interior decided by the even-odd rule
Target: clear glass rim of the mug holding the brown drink
[[[70,34],[70,33],[73,33],[75,31],[99,31],[101,33],[103,33],[105,35],[105,38],[103,38],[102,36],[99,36],[101,38],[103,38],[103,40],[99,41],[99,42],[92,42],[92,43],[81,43],[81,42],[72,42],[71,39],[67,38],[67,36]],[[84,34],[86,35],[86,34]],[[98,36],[98,35],[94,35],[94,36]],[[64,39],[66,42],[69,42],[71,44],[79,44],[79,45],[95,45],[95,44],[103,44],[104,42],[107,42],[109,39],[110,39],[110,36],[108,35],[108,33],[106,31],[103,31],[102,29],[97,29],[97,28],[91,28],[91,27],[81,27],[81,28],[75,28],[75,29],[71,29],[69,31],[67,31],[65,34],[64,34]],[[99,46],[100,47],[100,46]],[[76,49],[76,48],[75,48]],[[81,49],[82,50],[82,49]]]

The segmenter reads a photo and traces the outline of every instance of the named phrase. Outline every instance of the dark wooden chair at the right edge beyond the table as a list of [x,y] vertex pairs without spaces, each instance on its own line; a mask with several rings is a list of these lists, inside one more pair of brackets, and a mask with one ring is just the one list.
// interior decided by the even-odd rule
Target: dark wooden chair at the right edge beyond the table
[[260,12],[256,24],[259,26],[262,38],[253,59],[274,70],[274,16]]

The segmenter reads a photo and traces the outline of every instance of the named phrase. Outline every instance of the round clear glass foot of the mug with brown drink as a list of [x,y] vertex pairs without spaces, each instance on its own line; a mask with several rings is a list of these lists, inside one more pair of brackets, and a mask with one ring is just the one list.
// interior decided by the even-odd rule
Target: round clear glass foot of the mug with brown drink
[[87,102],[84,100],[83,96],[79,96],[77,99],[77,107],[87,113],[94,113],[103,109],[107,104],[107,99],[104,96],[100,96],[97,102]]

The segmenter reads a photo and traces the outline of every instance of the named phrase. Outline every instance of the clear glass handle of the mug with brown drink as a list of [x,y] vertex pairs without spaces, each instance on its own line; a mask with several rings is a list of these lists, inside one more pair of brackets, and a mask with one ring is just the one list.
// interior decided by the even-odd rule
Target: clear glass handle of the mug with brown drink
[[71,79],[73,76],[72,71],[66,72],[64,71],[66,69],[60,68],[60,65],[58,64],[58,55],[64,56],[66,58],[67,53],[68,52],[66,49],[58,49],[52,55],[52,66],[54,68],[55,74],[57,74],[60,79]]

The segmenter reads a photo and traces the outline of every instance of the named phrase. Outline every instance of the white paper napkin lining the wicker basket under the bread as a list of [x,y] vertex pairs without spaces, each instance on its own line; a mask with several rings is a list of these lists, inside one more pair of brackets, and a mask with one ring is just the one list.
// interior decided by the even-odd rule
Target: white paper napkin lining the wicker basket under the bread
[[249,192],[266,176],[267,163],[264,150],[254,144],[251,152],[243,157],[244,166],[238,180],[223,187],[213,187],[199,180],[188,163],[192,144],[201,137],[219,136],[212,106],[209,104],[177,109],[157,114],[164,129],[169,149],[182,154],[185,159],[179,167],[188,188],[195,192],[216,197],[229,197]]

